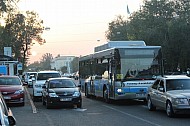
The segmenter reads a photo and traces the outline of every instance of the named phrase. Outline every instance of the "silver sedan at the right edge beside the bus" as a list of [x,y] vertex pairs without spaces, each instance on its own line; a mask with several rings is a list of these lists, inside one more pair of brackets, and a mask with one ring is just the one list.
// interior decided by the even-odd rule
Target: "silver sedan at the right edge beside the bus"
[[156,108],[166,110],[167,116],[190,112],[190,78],[185,75],[159,77],[147,93],[150,111]]

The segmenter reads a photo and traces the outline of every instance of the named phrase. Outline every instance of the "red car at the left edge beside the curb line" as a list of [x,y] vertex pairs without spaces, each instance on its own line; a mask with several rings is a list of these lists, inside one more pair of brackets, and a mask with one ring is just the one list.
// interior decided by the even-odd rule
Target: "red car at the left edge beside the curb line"
[[18,76],[0,76],[0,92],[2,92],[7,104],[24,106],[24,87]]

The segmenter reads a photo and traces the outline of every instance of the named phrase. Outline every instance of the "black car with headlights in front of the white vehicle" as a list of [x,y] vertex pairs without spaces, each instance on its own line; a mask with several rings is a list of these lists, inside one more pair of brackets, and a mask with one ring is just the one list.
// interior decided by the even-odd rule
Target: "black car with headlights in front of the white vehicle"
[[81,108],[82,96],[79,87],[71,78],[50,78],[43,86],[43,105],[46,105],[47,109],[59,105],[76,105]]

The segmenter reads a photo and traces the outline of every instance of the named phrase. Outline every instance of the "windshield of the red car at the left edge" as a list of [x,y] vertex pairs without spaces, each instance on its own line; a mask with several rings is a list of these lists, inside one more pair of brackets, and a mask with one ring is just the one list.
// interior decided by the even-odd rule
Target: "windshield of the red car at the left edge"
[[18,78],[0,78],[0,85],[21,85]]

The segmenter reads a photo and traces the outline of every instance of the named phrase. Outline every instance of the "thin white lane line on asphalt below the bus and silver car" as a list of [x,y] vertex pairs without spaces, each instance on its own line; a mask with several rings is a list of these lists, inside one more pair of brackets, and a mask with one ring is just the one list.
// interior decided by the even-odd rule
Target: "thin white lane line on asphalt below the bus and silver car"
[[124,115],[130,116],[130,117],[133,117],[133,118],[136,118],[136,119],[141,120],[141,121],[146,122],[146,123],[149,123],[149,124],[151,124],[151,125],[154,125],[154,126],[161,126],[161,125],[159,125],[159,124],[150,122],[150,121],[148,121],[148,120],[146,120],[146,119],[143,119],[143,118],[140,118],[140,117],[138,117],[138,116],[135,116],[135,115],[132,115],[132,114],[129,114],[129,113],[120,111],[120,110],[115,109],[115,108],[113,108],[113,107],[110,107],[110,106],[107,106],[107,105],[103,105],[103,106],[106,107],[106,108],[112,109],[112,110],[114,110],[114,111],[120,112],[120,113],[122,113],[122,114],[124,114]]

